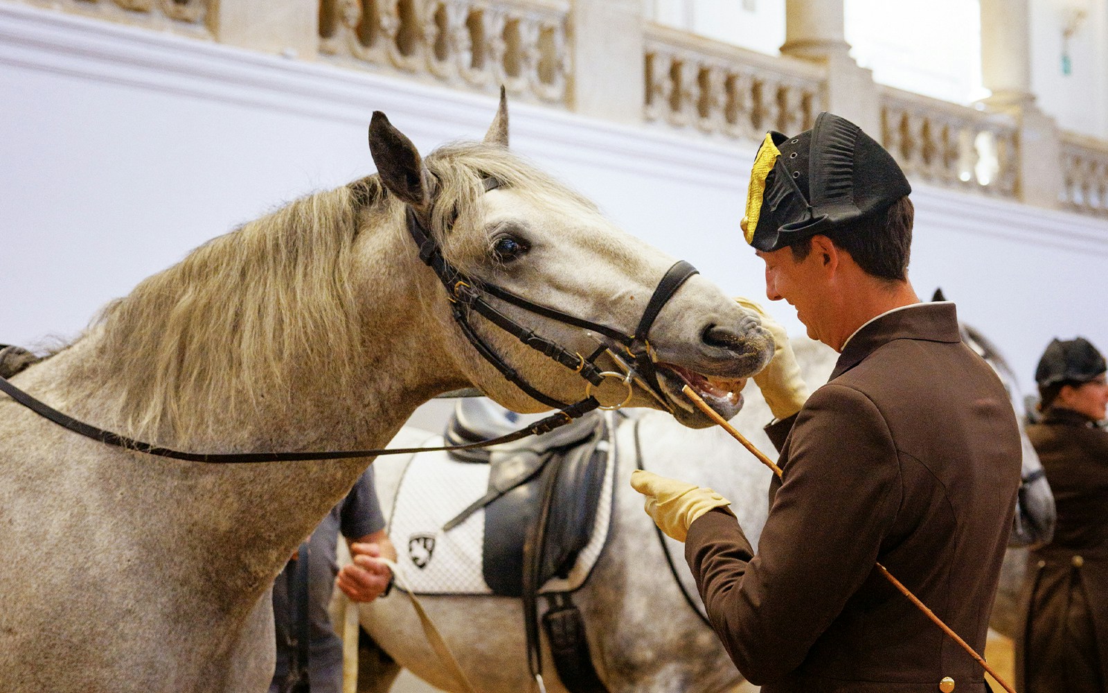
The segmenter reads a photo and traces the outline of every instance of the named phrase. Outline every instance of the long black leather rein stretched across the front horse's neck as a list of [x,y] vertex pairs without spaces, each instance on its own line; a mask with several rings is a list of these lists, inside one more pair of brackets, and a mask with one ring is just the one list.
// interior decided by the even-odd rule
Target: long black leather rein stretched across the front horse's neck
[[588,411],[592,411],[599,402],[596,398],[589,397],[578,401],[577,404],[566,407],[561,411],[552,414],[551,416],[535,421],[526,428],[521,428],[517,431],[513,431],[505,436],[500,436],[499,438],[492,438],[490,440],[481,440],[479,442],[470,442],[465,445],[458,446],[440,446],[437,448],[382,448],[379,450],[327,450],[327,451],[315,451],[315,452],[184,452],[181,450],[174,450],[172,448],[163,448],[161,446],[155,446],[150,442],[143,442],[141,440],[135,440],[133,438],[127,438],[126,436],[121,436],[119,434],[112,432],[110,430],[104,430],[103,428],[96,428],[95,426],[90,426],[84,421],[74,419],[71,416],[62,414],[61,411],[54,409],[53,407],[44,404],[43,401],[35,399],[34,397],[28,395],[23,390],[19,389],[7,378],[0,377],[0,391],[6,393],[9,397],[14,399],[17,402],[23,405],[31,411],[34,411],[39,416],[50,419],[54,424],[73,431],[74,434],[80,434],[85,438],[91,438],[98,440],[105,445],[115,446],[117,448],[124,448],[127,450],[135,450],[136,452],[145,452],[146,455],[154,455],[157,457],[168,457],[172,459],[179,459],[191,462],[208,462],[208,463],[256,463],[256,462],[296,462],[296,461],[307,461],[307,460],[330,460],[330,459],[351,459],[356,457],[379,457],[381,455],[412,455],[414,452],[429,452],[429,451],[450,451],[450,450],[466,450],[471,448],[484,448],[494,445],[500,445],[502,442],[512,442],[513,440],[519,440],[521,438],[526,438],[527,436],[538,436],[545,432],[550,432],[560,426],[564,426],[575,418],[581,417]]

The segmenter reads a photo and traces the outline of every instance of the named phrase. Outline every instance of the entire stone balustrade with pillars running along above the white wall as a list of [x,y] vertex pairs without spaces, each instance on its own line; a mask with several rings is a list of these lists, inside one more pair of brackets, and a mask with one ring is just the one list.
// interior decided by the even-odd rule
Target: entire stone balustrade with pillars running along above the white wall
[[591,118],[750,143],[806,130],[833,104],[914,182],[1108,216],[1108,142],[1060,132],[1033,104],[972,108],[874,84],[845,43],[824,59],[766,55],[645,21],[637,0],[0,2],[490,94],[503,84]]

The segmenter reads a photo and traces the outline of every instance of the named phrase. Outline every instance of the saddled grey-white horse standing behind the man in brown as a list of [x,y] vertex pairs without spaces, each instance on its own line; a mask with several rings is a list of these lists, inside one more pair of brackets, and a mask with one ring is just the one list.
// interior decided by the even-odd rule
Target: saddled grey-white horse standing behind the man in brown
[[[966,332],[964,339],[997,369],[1018,397],[1010,370],[987,342]],[[807,338],[793,340],[793,349],[806,381],[814,388],[827,383],[837,359],[830,348]],[[759,449],[773,452],[762,426],[772,419],[769,407],[751,384],[743,390],[746,404],[732,420]],[[627,479],[636,463],[650,471],[708,486],[730,499],[745,532],[757,546],[768,513],[771,472],[719,428],[690,430],[664,415],[642,411],[620,419],[615,434],[616,497],[613,526],[604,552],[588,581],[574,593],[582,610],[593,662],[611,693],[720,693],[746,690],[712,631],[689,604],[702,609],[696,584],[685,565],[684,547],[659,540],[653,522],[643,512],[643,499],[630,491]],[[428,434],[402,431],[398,445],[425,440]],[[636,440],[637,438],[637,440]],[[1026,437],[1025,437],[1026,438]],[[1029,445],[1024,447],[1025,477],[1040,468]],[[417,456],[417,460],[420,456]],[[636,459],[638,458],[638,459]],[[407,460],[382,458],[375,468],[378,495],[389,517],[393,496]],[[408,473],[418,473],[418,466]],[[1044,496],[1045,493],[1045,496]],[[1053,529],[1053,501],[1045,480],[1028,489],[1033,514],[1042,531]],[[1032,539],[1042,539],[1040,536]],[[406,538],[393,537],[400,550]],[[663,551],[676,565],[671,571]],[[1014,550],[1004,573],[994,621],[1009,634],[1014,598],[1018,585],[1019,557]],[[684,594],[683,594],[684,592]],[[506,597],[420,595],[463,671],[480,693],[517,693],[534,690],[529,677],[523,613],[520,600]],[[450,670],[444,669],[427,644],[419,621],[401,597],[361,605],[361,624],[399,666],[428,683],[462,693]],[[546,650],[545,662],[551,661]],[[389,690],[399,669],[375,660],[373,672],[362,677],[362,691]],[[546,687],[564,691],[552,672],[544,672]]]

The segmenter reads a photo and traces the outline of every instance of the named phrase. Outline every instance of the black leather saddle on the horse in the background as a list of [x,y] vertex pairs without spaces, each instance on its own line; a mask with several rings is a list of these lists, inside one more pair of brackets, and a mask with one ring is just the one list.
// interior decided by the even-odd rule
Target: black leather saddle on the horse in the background
[[[520,425],[520,415],[488,400],[463,400],[448,440],[469,440]],[[611,452],[608,422],[599,412],[538,439],[466,450],[456,459],[491,466],[489,491],[447,523],[484,509],[482,572],[493,593],[523,600],[527,663],[541,682],[540,590],[566,579],[596,524]],[[550,592],[543,625],[558,677],[571,693],[606,693],[593,666],[584,620],[571,591]]]

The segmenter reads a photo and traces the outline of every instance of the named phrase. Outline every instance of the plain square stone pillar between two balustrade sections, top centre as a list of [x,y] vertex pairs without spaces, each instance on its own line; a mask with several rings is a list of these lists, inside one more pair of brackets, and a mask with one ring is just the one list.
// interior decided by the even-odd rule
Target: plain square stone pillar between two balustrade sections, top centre
[[571,108],[582,115],[642,123],[643,0],[573,0]]

